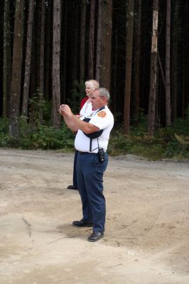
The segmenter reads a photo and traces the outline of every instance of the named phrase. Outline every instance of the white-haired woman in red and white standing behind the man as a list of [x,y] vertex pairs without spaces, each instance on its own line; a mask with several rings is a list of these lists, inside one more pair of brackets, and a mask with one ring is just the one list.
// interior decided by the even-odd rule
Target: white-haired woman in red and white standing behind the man
[[[88,80],[85,81],[85,92],[87,97],[82,99],[80,104],[80,114],[78,117],[81,116],[87,116],[92,112],[92,104],[90,102],[90,97],[92,96],[92,92],[95,91],[95,89],[99,88],[99,82],[96,80]],[[78,151],[75,151],[75,157],[74,157],[74,164],[73,164],[73,184],[68,185],[68,190],[77,190],[77,172],[76,172],[76,165],[77,165],[77,155]]]

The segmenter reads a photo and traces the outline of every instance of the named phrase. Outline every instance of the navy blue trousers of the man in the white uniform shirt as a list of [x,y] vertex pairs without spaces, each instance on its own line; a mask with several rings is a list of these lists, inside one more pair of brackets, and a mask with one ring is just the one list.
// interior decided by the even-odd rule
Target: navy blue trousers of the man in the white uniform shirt
[[82,215],[85,222],[93,223],[93,231],[104,232],[106,203],[103,195],[103,174],[107,168],[108,155],[99,163],[95,153],[78,153],[77,187],[82,200]]

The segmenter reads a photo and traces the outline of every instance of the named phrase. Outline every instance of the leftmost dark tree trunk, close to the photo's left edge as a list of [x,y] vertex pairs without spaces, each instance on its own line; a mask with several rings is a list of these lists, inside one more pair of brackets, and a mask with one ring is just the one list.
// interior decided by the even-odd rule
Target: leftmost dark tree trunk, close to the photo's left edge
[[4,1],[4,82],[3,82],[3,115],[9,116],[9,91],[11,80],[11,37],[10,37],[10,1]]

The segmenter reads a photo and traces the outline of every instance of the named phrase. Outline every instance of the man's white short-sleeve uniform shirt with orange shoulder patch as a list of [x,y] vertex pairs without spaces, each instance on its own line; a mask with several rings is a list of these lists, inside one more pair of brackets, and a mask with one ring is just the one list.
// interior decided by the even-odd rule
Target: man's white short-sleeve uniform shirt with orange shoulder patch
[[114,116],[107,106],[102,110],[92,111],[88,116],[82,116],[90,118],[90,124],[97,126],[100,130],[103,129],[101,136],[92,139],[92,149],[90,151],[90,138],[79,129],[75,137],[75,148],[81,152],[98,153],[98,148],[104,148],[107,151],[109,134],[114,126]]

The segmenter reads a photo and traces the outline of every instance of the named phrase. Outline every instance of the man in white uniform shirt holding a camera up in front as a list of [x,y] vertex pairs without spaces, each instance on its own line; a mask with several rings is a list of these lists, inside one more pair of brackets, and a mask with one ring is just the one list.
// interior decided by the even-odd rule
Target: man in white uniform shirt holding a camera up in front
[[109,92],[99,88],[92,93],[92,113],[78,119],[66,104],[60,114],[72,131],[77,131],[77,185],[82,200],[82,219],[73,226],[92,226],[88,241],[98,241],[104,235],[106,204],[103,195],[103,175],[107,168],[107,146],[114,117],[107,107]]

